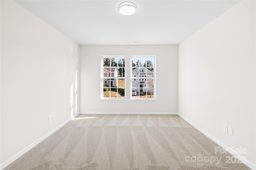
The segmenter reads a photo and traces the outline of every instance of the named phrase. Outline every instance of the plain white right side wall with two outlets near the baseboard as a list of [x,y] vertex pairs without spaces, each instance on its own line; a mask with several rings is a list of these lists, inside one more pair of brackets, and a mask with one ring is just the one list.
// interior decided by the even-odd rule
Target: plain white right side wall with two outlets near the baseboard
[[247,149],[254,165],[255,19],[255,1],[241,1],[178,46],[178,112],[228,147]]

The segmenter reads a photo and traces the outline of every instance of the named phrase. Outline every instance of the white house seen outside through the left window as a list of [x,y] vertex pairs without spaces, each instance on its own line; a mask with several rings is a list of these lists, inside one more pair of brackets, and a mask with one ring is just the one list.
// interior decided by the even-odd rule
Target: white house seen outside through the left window
[[106,87],[116,87],[116,78],[117,77],[117,69],[116,67],[104,67],[103,68],[103,86]]

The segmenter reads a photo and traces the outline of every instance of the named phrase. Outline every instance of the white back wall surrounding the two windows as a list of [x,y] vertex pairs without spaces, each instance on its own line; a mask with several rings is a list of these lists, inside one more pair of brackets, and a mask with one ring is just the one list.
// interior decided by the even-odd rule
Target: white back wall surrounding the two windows
[[[127,56],[126,100],[100,100],[101,55]],[[130,100],[130,55],[156,55],[156,100]],[[80,46],[80,111],[177,112],[177,61],[177,45]]]

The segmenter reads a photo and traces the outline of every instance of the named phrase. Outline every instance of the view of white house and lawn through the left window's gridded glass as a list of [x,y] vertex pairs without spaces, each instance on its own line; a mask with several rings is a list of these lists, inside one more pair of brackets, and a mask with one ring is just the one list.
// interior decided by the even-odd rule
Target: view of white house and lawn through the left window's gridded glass
[[102,56],[101,98],[125,99],[125,56]]

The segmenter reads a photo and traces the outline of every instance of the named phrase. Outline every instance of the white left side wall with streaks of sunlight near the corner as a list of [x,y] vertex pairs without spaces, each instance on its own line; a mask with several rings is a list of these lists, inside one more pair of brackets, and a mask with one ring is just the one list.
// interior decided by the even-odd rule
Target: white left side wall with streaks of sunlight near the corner
[[78,59],[76,43],[16,2],[1,1],[1,164],[76,112]]

